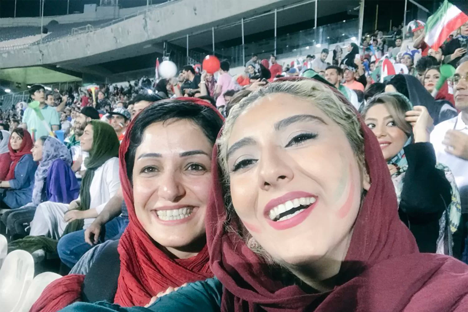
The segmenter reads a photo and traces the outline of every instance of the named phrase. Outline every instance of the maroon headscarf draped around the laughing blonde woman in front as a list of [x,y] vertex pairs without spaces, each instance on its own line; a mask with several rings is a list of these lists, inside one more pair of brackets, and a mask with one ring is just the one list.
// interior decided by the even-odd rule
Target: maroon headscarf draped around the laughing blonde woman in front
[[[300,80],[295,78],[287,80]],[[280,79],[282,81],[285,79]],[[273,82],[277,83],[277,82]],[[352,105],[330,87],[344,105]],[[307,293],[285,286],[234,231],[225,231],[226,208],[218,164],[206,214],[212,271],[223,284],[221,311],[461,311],[468,301],[468,266],[454,258],[419,254],[398,217],[395,189],[373,132],[359,117],[372,185],[359,210],[336,287]],[[213,150],[213,158],[217,155]],[[210,225],[210,226],[208,226]],[[230,223],[237,229],[234,222]],[[466,311],[466,310],[463,310]]]

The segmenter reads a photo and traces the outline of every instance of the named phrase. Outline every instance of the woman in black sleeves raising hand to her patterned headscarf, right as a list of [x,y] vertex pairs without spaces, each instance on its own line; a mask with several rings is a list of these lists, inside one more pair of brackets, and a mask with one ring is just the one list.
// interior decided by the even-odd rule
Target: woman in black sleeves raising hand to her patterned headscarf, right
[[460,223],[460,195],[450,169],[436,163],[427,109],[413,108],[402,94],[383,93],[369,100],[362,116],[379,141],[395,185],[398,214],[419,251],[448,254],[444,240],[452,242],[447,235]]

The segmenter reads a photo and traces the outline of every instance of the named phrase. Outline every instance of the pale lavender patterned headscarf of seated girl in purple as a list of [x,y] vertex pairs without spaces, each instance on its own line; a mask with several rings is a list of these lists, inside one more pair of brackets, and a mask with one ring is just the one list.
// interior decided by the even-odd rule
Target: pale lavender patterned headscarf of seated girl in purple
[[44,181],[55,160],[61,159],[71,166],[72,156],[66,146],[57,138],[47,137],[42,148],[42,160],[34,174],[34,189],[32,190],[32,205],[37,207],[41,203]]

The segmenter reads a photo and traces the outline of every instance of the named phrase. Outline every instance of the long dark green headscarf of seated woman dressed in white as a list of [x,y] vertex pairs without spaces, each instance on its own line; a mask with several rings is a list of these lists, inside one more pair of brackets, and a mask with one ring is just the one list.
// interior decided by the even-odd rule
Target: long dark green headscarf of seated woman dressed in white
[[[118,156],[119,141],[117,134],[109,123],[99,120],[91,120],[93,126],[93,146],[89,151],[89,157],[85,159],[86,172],[81,180],[80,206],[77,210],[88,210],[91,203],[89,189],[93,181],[94,173],[107,160]],[[84,220],[77,219],[69,222],[65,228],[64,235],[83,228]]]

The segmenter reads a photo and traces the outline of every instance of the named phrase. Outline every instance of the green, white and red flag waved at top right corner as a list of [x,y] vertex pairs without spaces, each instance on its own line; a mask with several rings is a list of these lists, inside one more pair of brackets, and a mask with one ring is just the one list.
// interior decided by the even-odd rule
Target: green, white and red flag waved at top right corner
[[426,22],[424,41],[437,50],[450,33],[468,21],[468,16],[447,0]]

